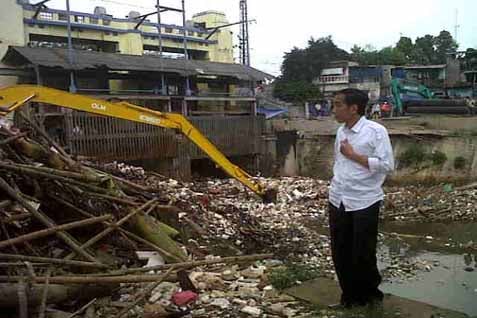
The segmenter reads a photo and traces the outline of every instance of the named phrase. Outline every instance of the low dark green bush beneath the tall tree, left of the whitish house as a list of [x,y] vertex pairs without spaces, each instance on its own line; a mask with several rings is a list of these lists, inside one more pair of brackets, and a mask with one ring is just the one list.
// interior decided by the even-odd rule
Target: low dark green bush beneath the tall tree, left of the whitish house
[[285,102],[304,103],[321,97],[319,88],[306,81],[284,81],[279,78],[273,87],[273,96]]

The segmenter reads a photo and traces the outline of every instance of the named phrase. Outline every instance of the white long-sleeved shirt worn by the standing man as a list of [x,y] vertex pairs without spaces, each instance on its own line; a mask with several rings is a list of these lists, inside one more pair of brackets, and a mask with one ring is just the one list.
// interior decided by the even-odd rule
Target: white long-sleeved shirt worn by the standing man
[[[357,154],[368,157],[369,169],[341,153],[340,142],[345,139]],[[336,133],[330,203],[336,207],[343,203],[345,211],[356,211],[383,200],[381,187],[393,170],[393,149],[386,128],[364,116],[351,129],[341,126]]]

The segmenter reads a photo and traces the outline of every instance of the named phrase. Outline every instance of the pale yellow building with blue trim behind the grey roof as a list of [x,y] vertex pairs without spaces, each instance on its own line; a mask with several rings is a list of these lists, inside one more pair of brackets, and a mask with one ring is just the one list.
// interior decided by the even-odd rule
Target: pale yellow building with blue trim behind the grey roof
[[[66,47],[67,12],[31,5],[26,0],[2,0],[0,11],[0,59],[8,46]],[[180,13],[177,13],[180,14]],[[70,12],[73,45],[76,49],[132,55],[157,54],[157,23],[145,20],[139,27],[138,12],[126,18],[113,17],[103,7],[94,12]],[[161,25],[165,54],[184,52],[186,32],[189,57],[195,60],[233,63],[232,32],[220,29],[210,38],[207,28],[227,24],[225,14],[205,11],[193,16],[184,27]]]

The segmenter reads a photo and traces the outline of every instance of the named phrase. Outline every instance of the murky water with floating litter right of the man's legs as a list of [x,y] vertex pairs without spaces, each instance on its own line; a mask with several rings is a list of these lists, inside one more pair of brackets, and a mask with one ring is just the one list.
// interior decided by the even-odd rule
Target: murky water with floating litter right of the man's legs
[[[477,316],[477,250],[468,248],[469,242],[476,240],[477,223],[419,226],[388,226],[388,230],[409,234],[407,238],[387,238],[380,248],[380,269],[389,271],[399,259],[402,274],[388,278],[382,290]],[[426,236],[422,236],[424,231]],[[435,235],[437,232],[440,234]],[[458,236],[463,240],[456,240]],[[407,265],[402,266],[403,262]]]

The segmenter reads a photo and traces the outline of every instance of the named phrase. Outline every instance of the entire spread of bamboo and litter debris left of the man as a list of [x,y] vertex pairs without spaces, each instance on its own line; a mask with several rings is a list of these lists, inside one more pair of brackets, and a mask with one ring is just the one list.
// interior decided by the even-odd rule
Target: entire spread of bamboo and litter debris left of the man
[[261,181],[279,188],[278,203],[235,181],[80,162],[34,122],[21,132],[2,120],[2,313],[299,317],[306,308],[268,274],[277,259],[302,259],[333,275],[328,238],[303,226],[326,221],[327,185]]

